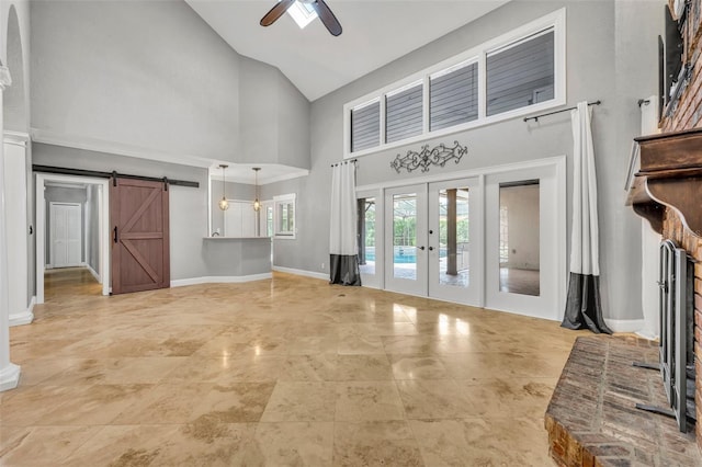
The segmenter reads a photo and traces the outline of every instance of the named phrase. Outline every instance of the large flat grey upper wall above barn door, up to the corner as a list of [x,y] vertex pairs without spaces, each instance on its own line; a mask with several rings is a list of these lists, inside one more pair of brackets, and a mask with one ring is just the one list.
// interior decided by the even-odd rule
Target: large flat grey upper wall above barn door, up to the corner
[[184,2],[32,3],[32,127],[233,160],[239,56]]

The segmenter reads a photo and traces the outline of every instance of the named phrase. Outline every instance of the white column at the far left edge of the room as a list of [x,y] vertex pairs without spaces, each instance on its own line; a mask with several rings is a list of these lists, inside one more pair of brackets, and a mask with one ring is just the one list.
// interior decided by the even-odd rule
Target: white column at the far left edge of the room
[[[2,94],[12,84],[10,70],[0,66],[0,110]],[[4,122],[0,112],[0,167],[4,167]],[[8,239],[5,216],[5,190],[0,176],[0,391],[14,389],[20,383],[20,367],[10,362],[10,301],[8,287]]]

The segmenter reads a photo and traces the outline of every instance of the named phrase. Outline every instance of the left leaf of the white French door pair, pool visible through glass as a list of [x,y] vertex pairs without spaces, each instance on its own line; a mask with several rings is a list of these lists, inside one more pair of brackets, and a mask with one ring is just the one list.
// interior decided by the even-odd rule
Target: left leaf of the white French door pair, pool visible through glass
[[427,296],[427,184],[385,191],[385,288]]

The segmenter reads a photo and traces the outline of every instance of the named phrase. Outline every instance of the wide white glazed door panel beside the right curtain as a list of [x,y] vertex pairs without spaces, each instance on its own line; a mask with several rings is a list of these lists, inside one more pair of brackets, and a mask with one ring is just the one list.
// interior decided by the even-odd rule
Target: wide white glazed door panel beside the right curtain
[[486,175],[486,308],[558,320],[565,276],[554,167]]

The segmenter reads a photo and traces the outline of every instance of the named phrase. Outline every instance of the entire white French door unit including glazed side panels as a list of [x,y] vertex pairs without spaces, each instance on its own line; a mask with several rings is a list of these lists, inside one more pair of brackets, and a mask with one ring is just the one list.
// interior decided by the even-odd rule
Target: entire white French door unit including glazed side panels
[[565,167],[558,157],[359,190],[363,285],[561,320]]

